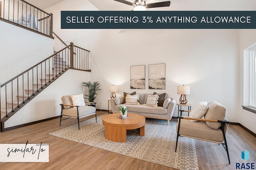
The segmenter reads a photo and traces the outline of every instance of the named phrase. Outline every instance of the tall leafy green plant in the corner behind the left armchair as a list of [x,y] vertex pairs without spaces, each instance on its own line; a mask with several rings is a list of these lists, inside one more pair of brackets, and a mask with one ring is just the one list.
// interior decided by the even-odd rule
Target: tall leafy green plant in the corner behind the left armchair
[[89,102],[94,102],[97,96],[97,91],[100,89],[100,83],[99,82],[83,82],[83,85],[88,87],[88,94],[85,94],[86,99],[88,99]]

